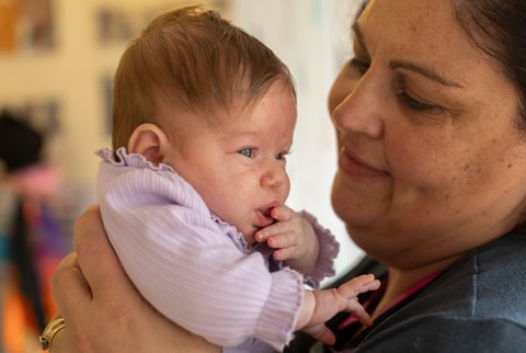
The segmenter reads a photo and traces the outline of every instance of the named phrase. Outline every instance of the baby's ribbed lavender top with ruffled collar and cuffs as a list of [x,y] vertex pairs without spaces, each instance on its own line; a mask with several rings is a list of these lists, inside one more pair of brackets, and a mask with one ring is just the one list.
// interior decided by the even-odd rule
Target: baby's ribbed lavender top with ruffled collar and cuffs
[[169,319],[230,352],[283,350],[294,333],[304,284],[317,286],[334,274],[334,237],[301,212],[320,241],[316,269],[304,276],[278,264],[270,272],[270,249],[248,246],[171,167],[155,167],[124,148],[118,158],[108,149],[98,155],[104,227],[141,295]]

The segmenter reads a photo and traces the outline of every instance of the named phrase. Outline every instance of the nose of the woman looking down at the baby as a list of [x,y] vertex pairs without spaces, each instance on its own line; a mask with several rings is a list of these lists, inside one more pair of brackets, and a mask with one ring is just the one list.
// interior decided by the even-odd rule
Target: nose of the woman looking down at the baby
[[342,95],[342,100],[331,112],[338,130],[364,134],[370,138],[382,136],[385,106],[381,103],[381,89],[376,86],[374,79],[364,77],[356,82],[354,89]]

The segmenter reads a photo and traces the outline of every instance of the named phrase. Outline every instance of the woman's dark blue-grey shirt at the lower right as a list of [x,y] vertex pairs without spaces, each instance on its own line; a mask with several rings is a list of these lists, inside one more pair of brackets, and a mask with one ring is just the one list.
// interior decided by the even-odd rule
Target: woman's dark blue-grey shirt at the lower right
[[[368,258],[358,267],[348,275],[385,272]],[[342,352],[526,352],[526,235],[514,231],[471,251],[359,340],[351,335],[340,338],[347,343]],[[300,341],[288,352],[307,352]]]

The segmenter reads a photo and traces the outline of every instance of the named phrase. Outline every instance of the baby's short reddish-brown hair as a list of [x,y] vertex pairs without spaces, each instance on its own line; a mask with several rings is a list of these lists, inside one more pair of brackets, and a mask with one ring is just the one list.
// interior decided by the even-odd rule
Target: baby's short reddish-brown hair
[[130,43],[115,72],[113,148],[126,146],[140,124],[160,123],[162,106],[228,110],[256,101],[278,80],[296,96],[285,64],[217,11],[192,5],[161,13]]

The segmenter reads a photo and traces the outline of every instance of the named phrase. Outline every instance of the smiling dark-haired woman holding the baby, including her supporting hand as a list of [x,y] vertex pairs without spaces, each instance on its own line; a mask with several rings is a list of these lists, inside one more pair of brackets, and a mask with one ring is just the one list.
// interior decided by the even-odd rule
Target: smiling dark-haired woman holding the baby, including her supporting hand
[[[524,351],[524,0],[374,0],[353,26],[329,95],[332,204],[384,287],[364,298],[373,327],[329,323],[339,349]],[[98,217],[78,223],[82,272],[70,255],[54,277],[53,352],[219,352],[140,298]]]

